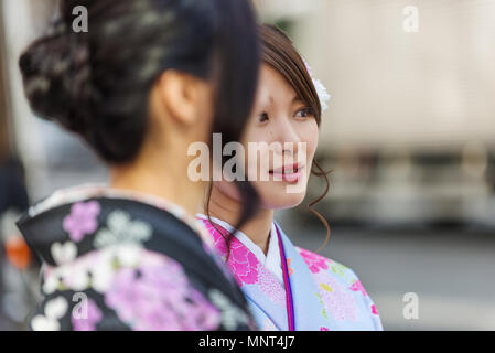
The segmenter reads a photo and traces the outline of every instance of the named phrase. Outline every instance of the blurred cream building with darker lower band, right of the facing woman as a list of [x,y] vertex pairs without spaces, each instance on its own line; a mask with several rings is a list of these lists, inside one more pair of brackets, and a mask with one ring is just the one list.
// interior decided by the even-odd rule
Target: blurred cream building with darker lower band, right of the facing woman
[[495,225],[494,1],[258,3],[332,94],[320,142],[335,170],[329,216]]

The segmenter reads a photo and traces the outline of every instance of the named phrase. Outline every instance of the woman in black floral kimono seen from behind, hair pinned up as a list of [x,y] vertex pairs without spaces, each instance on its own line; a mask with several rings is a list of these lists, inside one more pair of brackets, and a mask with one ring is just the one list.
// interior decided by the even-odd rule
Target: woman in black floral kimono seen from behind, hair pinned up
[[[88,32],[74,32],[85,6]],[[239,140],[258,74],[248,0],[62,1],[20,58],[41,117],[79,135],[109,185],[61,190],[19,221],[42,258],[33,330],[249,330],[246,300],[194,220],[193,142]],[[256,193],[239,184],[249,218]],[[251,206],[250,206],[251,205]]]

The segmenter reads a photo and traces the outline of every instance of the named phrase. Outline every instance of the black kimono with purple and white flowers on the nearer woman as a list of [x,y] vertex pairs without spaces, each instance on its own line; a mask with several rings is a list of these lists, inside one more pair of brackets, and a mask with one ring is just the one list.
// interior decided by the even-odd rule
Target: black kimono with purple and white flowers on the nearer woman
[[32,330],[256,329],[206,231],[162,199],[79,186],[18,226],[43,260]]

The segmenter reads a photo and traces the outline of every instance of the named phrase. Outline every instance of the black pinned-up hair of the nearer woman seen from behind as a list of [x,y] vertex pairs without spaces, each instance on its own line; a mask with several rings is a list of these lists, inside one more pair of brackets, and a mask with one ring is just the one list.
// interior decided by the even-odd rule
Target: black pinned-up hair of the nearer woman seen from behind
[[[76,6],[88,11],[87,32],[72,29]],[[20,57],[36,115],[80,135],[107,163],[129,162],[147,135],[151,87],[173,68],[214,82],[212,132],[224,146],[240,139],[260,62],[249,0],[62,0],[58,10]],[[257,195],[238,188],[246,221]]]

